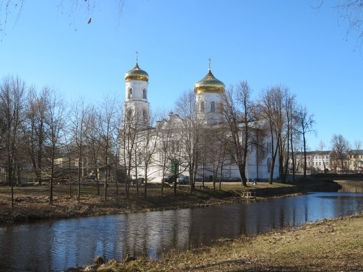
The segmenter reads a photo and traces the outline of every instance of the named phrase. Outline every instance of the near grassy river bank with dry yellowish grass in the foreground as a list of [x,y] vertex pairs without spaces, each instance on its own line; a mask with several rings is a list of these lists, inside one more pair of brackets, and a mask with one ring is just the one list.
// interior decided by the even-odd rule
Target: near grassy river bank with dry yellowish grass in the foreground
[[210,247],[161,260],[129,257],[96,265],[68,268],[78,271],[362,271],[363,213],[323,219],[298,228],[275,229],[235,240],[219,239]]

